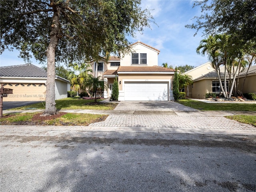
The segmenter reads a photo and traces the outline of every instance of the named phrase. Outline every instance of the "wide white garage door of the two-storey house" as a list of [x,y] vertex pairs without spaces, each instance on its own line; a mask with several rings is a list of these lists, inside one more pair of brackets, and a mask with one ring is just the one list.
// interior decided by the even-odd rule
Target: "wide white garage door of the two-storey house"
[[168,82],[124,82],[126,101],[167,101]]

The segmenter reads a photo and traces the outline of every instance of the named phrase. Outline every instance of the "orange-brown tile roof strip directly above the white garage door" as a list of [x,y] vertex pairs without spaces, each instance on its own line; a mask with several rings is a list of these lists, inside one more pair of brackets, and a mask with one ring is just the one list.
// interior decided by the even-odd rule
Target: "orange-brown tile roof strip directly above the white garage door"
[[160,66],[119,66],[117,72],[175,72]]

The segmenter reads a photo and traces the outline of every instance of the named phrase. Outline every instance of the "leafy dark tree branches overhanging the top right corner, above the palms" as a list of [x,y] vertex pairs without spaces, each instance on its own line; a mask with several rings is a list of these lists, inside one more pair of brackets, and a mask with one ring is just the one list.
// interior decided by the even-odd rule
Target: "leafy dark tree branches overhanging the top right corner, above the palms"
[[186,25],[187,28],[203,30],[205,36],[212,34],[232,34],[246,44],[256,40],[256,1],[255,0],[202,0],[196,1],[202,14],[195,16],[195,23]]

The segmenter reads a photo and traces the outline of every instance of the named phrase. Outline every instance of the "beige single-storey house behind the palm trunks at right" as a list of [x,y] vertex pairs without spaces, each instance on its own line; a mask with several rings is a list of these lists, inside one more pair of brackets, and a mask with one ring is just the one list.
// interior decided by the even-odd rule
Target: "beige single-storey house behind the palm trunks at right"
[[[207,72],[208,70],[208,72]],[[225,67],[220,68],[220,76],[222,79],[222,86],[224,87],[224,70]],[[244,76],[246,74],[247,68],[240,72],[238,90],[241,90],[244,81]],[[185,90],[186,94],[190,98],[205,98],[206,93],[219,93],[220,83],[218,80],[218,74],[214,68],[212,68],[210,62],[200,65],[192,70],[187,71],[184,74],[192,76],[193,84],[188,86]],[[233,77],[231,77],[233,79]],[[238,78],[238,76],[236,76]],[[229,91],[228,86],[229,77],[228,72],[226,72],[226,87]],[[237,80],[236,80],[237,82]],[[246,82],[244,85],[243,93],[256,93],[256,66],[251,66],[246,77]]]

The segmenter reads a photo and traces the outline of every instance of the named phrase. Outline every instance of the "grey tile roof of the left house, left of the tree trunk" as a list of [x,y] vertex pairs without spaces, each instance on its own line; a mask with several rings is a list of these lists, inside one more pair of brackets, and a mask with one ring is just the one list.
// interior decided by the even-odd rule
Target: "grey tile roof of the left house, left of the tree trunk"
[[47,77],[47,72],[35,65],[14,65],[0,67],[0,76],[5,77]]

